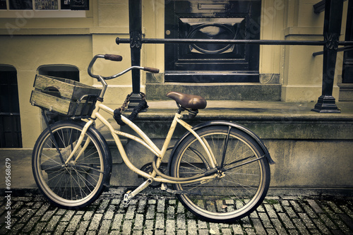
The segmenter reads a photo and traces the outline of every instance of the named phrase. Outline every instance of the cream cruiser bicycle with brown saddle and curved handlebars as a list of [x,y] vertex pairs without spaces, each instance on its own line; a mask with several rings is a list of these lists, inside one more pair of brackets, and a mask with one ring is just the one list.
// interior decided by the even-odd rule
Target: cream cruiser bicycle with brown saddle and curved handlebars
[[[82,208],[109,187],[112,156],[106,140],[95,128],[95,121],[99,120],[109,129],[128,168],[145,179],[138,188],[124,195],[125,205],[152,182],[160,182],[162,190],[174,193],[190,212],[210,222],[234,222],[256,210],[268,191],[269,164],[274,163],[256,134],[228,121],[208,121],[192,127],[183,120],[181,112],[188,111],[191,117],[196,116],[198,109],[206,107],[206,100],[197,95],[169,92],[167,97],[177,102],[178,111],[159,149],[133,121],[103,104],[108,87],[106,80],[118,78],[132,69],[152,73],[158,70],[132,66],[103,77],[92,74],[97,59],[121,61],[122,57],[98,54],[90,62],[88,74],[102,83],[100,95],[93,96],[96,99],[92,112],[49,125],[45,108],[41,107],[47,128],[35,143],[32,171],[38,188],[50,203],[68,209]],[[140,104],[139,109],[143,109],[145,104]],[[119,124],[129,126],[138,136],[114,130],[101,111],[114,115]],[[186,133],[169,147],[177,124],[184,126]],[[155,154],[149,171],[131,164],[119,136],[135,140]],[[167,150],[172,152],[167,171],[162,171],[160,165]]]

